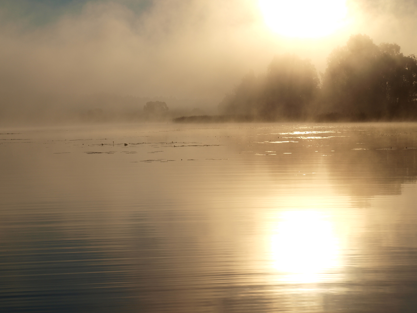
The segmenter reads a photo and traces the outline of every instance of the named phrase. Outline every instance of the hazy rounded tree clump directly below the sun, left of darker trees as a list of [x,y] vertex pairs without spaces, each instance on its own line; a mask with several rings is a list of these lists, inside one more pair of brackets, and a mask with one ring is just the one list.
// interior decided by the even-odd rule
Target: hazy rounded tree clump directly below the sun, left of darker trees
[[309,60],[276,56],[264,76],[246,75],[219,105],[224,114],[244,114],[264,120],[300,119],[317,96],[319,78]]

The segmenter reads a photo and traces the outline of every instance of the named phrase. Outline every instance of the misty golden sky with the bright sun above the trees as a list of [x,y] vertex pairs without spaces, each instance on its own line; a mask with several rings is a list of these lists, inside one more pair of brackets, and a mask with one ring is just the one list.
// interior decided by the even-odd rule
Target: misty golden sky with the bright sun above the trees
[[216,105],[277,54],[309,58],[324,72],[352,34],[417,53],[416,0],[338,1],[0,0],[0,93]]

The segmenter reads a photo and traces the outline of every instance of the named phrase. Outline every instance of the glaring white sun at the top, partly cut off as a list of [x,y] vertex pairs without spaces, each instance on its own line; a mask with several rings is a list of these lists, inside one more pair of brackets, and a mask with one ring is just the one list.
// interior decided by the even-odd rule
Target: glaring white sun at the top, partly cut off
[[346,0],[259,0],[266,25],[288,37],[318,38],[345,23]]

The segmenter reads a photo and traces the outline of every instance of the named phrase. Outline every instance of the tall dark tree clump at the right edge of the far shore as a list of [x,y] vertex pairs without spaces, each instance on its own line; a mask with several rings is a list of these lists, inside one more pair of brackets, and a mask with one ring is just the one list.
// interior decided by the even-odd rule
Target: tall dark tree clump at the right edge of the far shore
[[392,119],[417,114],[416,57],[397,44],[375,45],[352,35],[327,58],[322,110],[353,119]]

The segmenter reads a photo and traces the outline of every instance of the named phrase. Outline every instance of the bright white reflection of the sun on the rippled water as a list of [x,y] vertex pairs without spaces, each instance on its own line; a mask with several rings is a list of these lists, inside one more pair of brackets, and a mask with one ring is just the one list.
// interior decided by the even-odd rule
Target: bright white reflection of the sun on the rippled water
[[314,283],[339,266],[339,247],[332,223],[317,211],[284,212],[271,236],[274,268],[285,281]]

